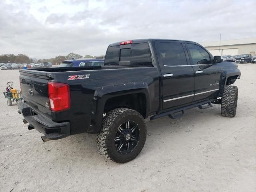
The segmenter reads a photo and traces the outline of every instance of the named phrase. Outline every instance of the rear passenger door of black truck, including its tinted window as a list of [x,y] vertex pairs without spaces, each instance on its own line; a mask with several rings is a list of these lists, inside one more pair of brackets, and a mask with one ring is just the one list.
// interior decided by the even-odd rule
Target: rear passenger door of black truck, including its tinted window
[[157,40],[157,58],[162,74],[162,107],[173,108],[192,102],[194,70],[182,41]]

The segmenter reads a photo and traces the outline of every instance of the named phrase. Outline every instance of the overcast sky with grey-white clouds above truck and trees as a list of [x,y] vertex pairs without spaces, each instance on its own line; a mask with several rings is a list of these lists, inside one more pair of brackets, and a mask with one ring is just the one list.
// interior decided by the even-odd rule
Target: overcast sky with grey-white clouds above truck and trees
[[136,38],[256,37],[255,0],[0,0],[0,54],[105,54]]

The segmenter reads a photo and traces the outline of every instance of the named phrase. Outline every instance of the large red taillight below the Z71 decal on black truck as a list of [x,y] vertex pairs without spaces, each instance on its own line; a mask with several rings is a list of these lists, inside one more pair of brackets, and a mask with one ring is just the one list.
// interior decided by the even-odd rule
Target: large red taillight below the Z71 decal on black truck
[[52,111],[60,112],[70,108],[70,90],[68,84],[49,81],[48,95]]

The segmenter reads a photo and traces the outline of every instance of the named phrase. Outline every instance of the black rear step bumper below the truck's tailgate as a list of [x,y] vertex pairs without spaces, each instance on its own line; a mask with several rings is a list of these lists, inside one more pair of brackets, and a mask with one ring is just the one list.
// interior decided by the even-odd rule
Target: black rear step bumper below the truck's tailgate
[[18,102],[18,108],[18,112],[29,123],[29,130],[35,128],[49,140],[61,139],[70,135],[70,122],[56,123],[25,102]]

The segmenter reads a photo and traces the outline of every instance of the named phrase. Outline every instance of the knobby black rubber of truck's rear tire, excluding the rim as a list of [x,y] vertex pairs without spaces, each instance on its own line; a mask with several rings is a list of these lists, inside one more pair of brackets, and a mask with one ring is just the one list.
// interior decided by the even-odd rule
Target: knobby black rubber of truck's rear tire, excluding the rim
[[[120,124],[126,120],[133,120],[138,124],[140,129],[140,140],[137,146],[128,154],[121,154],[115,147],[115,135]],[[141,152],[146,142],[146,123],[142,115],[128,108],[116,108],[104,117],[102,121],[102,128],[97,137],[97,146],[102,155],[106,158],[117,162],[126,163],[133,160]]]

